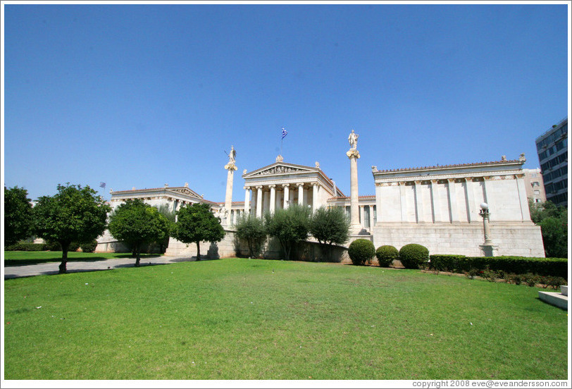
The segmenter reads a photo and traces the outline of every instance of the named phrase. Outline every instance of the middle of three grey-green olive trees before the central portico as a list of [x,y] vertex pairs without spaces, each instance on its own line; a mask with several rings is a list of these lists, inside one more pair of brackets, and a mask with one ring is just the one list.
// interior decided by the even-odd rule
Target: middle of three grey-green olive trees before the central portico
[[290,260],[292,247],[308,237],[310,209],[292,204],[274,214],[265,214],[264,218],[268,235],[278,238],[286,260]]

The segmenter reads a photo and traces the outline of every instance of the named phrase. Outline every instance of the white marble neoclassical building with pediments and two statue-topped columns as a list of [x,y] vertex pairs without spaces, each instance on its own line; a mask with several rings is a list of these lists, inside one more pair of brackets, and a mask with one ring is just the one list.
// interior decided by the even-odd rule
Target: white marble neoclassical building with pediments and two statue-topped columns
[[[427,247],[430,254],[545,257],[540,227],[530,221],[523,154],[514,160],[503,156],[500,161],[447,166],[395,170],[378,170],[372,166],[375,195],[360,197],[356,168],[360,156],[356,149],[357,135],[353,142],[352,135],[353,131],[347,152],[351,175],[349,196],[328,178],[319,163],[302,166],[287,163],[278,156],[271,165],[249,173],[245,170],[244,188],[238,191],[244,190],[244,201],[232,202],[233,175],[237,167],[235,154],[231,154],[225,166],[225,202],[203,199],[185,184],[112,191],[111,206],[115,208],[125,199],[139,198],[154,206],[167,204],[169,209],[177,211],[185,204],[206,202],[227,230],[225,239],[214,247],[218,257],[237,255],[233,230],[240,216],[262,217],[266,212],[272,213],[290,204],[309,206],[313,210],[321,206],[344,208],[352,223],[349,242],[365,238],[372,240],[375,247],[392,245],[397,249],[418,243]],[[483,203],[490,211],[487,243],[483,235]],[[118,247],[107,232],[98,242],[98,251],[113,251]],[[204,252],[209,249],[212,252],[213,245],[209,242],[204,245]],[[194,247],[171,238],[166,254],[192,256]]]

